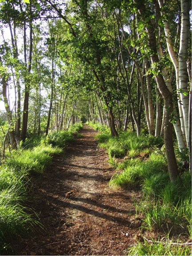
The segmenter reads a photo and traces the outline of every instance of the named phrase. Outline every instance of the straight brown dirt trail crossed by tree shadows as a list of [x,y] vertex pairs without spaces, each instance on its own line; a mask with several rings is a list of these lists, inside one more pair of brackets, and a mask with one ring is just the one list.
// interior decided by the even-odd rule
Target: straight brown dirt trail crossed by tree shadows
[[84,126],[80,133],[42,176],[32,177],[31,207],[46,231],[13,241],[13,255],[126,255],[140,238],[132,200],[139,193],[109,189],[114,171],[97,149],[96,131]]

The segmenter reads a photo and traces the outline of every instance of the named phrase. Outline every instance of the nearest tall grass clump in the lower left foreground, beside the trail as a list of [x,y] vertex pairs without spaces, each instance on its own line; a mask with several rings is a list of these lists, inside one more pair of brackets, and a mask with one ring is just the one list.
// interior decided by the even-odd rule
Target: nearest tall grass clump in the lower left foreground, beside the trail
[[[27,173],[18,173],[7,166],[0,167],[0,252],[8,247],[12,237],[27,234],[38,223],[27,213]],[[30,211],[32,212],[32,211]],[[2,255],[2,254],[1,254]]]

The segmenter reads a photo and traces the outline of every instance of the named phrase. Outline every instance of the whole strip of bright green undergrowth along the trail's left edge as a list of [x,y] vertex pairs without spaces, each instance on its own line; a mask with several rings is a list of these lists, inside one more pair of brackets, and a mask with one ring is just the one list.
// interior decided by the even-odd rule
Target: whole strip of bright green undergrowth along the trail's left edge
[[6,159],[0,165],[0,253],[10,250],[14,236],[26,236],[36,225],[41,226],[32,218],[34,212],[27,206],[28,191],[32,186],[30,175],[41,175],[52,157],[63,152],[81,128],[82,124],[76,124],[68,131],[31,138],[11,154],[6,152]]

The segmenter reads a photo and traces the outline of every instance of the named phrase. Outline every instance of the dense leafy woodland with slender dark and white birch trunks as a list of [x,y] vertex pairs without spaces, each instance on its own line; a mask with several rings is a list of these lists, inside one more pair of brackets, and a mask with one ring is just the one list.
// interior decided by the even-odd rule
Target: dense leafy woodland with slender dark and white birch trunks
[[1,163],[87,121],[163,138],[170,181],[191,172],[191,14],[189,0],[0,0]]

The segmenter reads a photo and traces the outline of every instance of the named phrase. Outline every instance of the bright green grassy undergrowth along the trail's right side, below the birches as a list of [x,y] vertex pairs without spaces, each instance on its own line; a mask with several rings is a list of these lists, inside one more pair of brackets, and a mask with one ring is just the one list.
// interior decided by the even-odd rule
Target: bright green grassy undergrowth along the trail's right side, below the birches
[[[163,138],[137,137],[132,132],[119,132],[115,138],[99,132],[96,138],[99,147],[106,149],[109,163],[117,170],[109,186],[139,190],[142,194],[140,201],[133,198],[136,216],[142,219],[140,230],[169,234],[165,243],[138,242],[128,255],[189,255],[190,248],[180,244],[184,243],[182,237],[190,238],[192,234],[191,175],[186,170],[178,180],[170,181]],[[182,170],[180,166],[186,162],[187,152],[176,152],[179,170]],[[170,241],[172,236],[179,236],[180,240]]]

